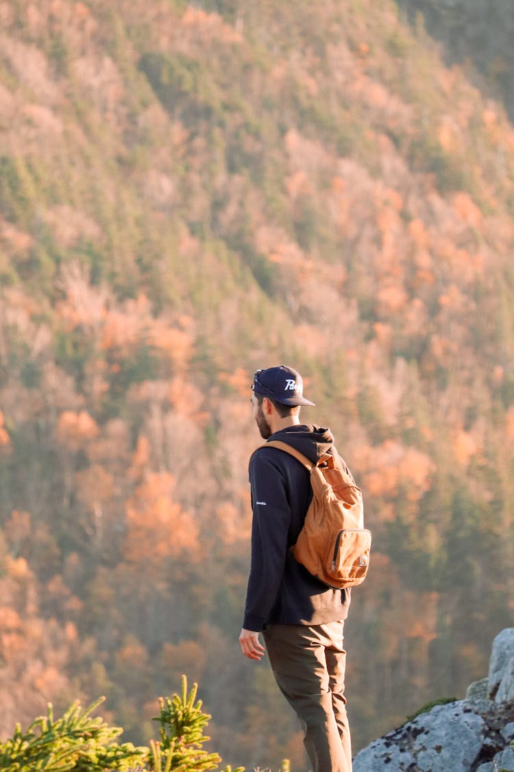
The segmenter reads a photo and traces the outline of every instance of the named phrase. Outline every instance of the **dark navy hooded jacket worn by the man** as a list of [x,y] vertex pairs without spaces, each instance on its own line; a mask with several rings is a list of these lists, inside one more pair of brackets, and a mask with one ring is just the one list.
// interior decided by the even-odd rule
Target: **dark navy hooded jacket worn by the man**
[[[328,428],[294,425],[275,432],[269,441],[292,445],[312,461],[331,452]],[[252,523],[251,566],[243,627],[321,625],[345,619],[349,590],[334,590],[297,563],[290,547],[304,524],[312,490],[309,472],[277,448],[260,448],[250,460]]]

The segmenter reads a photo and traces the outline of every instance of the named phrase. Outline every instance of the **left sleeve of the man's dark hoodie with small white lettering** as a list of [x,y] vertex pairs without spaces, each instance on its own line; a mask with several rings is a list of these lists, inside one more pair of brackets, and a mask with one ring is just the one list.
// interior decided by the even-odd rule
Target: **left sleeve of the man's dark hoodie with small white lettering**
[[250,462],[252,537],[250,577],[243,627],[261,631],[277,598],[287,555],[291,507],[283,473],[269,452],[257,452]]

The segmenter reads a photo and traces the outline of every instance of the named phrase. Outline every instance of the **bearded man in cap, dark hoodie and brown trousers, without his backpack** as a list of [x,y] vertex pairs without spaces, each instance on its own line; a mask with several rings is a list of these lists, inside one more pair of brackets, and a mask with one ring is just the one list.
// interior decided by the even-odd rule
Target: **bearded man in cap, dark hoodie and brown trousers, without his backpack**
[[[300,406],[314,403],[304,398],[296,370],[257,370],[252,389],[264,439],[287,442],[313,462],[335,452],[330,429],[300,422]],[[303,726],[313,772],[351,772],[343,648],[350,591],[321,583],[290,550],[311,502],[309,472],[289,453],[263,447],[250,460],[250,486],[254,519],[241,650],[262,659],[263,633],[277,685]]]

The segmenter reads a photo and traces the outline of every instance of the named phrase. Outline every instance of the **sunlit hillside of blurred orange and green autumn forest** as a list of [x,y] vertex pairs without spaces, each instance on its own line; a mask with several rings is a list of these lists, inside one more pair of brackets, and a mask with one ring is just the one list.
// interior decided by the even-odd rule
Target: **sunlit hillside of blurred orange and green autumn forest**
[[393,0],[0,0],[0,736],[105,694],[147,743],[186,673],[227,764],[303,768],[237,644],[250,383],[281,362],[374,533],[355,750],[485,675],[514,130],[478,82]]

